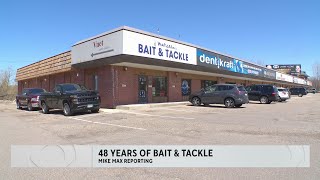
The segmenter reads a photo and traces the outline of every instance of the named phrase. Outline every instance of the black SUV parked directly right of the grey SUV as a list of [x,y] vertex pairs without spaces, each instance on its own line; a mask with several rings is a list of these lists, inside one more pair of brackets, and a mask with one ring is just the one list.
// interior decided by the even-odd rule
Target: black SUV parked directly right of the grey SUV
[[270,104],[279,100],[277,87],[268,84],[258,84],[246,87],[250,101],[260,101],[262,104]]

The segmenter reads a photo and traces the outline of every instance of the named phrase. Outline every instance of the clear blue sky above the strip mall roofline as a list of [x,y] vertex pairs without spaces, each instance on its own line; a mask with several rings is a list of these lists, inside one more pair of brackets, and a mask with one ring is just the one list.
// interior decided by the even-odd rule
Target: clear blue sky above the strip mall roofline
[[[263,64],[320,62],[319,0],[28,0],[0,2],[0,70],[130,26]],[[159,30],[159,32],[158,32]]]

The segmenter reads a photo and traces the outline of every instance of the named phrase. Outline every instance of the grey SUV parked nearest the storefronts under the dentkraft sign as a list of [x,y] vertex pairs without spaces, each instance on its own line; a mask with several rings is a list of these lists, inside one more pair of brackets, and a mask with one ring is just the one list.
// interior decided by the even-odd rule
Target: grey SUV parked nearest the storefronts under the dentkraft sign
[[240,107],[248,103],[248,94],[243,86],[235,84],[216,84],[192,93],[189,101],[194,106],[201,104],[224,104],[227,108]]

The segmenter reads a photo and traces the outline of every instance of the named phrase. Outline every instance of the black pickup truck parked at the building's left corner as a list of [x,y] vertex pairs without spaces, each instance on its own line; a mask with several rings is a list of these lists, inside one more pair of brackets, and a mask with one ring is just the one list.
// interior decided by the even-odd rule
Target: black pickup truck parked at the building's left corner
[[39,96],[40,107],[44,114],[49,113],[50,109],[62,109],[65,116],[88,110],[97,113],[100,102],[97,91],[87,90],[78,84],[58,84],[53,92],[42,93]]

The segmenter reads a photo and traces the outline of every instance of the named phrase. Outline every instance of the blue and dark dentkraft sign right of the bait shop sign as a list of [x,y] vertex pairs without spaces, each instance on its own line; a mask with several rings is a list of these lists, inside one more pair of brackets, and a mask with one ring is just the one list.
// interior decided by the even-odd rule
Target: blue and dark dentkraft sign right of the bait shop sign
[[197,49],[197,65],[264,77],[264,69],[259,66],[201,49]]

